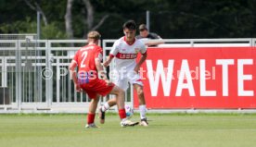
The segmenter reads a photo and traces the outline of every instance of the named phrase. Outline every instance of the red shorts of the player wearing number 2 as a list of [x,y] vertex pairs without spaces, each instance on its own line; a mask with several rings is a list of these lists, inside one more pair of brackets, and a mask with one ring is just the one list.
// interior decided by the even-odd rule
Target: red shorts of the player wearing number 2
[[95,99],[97,94],[105,96],[112,91],[115,84],[107,85],[105,80],[91,80],[88,83],[84,83],[81,85],[83,91],[85,91],[90,99]]

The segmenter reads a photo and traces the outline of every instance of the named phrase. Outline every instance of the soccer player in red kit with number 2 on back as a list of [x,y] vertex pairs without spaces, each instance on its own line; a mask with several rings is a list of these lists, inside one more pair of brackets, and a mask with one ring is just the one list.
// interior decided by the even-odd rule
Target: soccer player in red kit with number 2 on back
[[[117,105],[119,116],[121,118],[121,126],[134,126],[138,122],[132,122],[126,118],[124,109],[124,91],[111,83],[101,65],[102,48],[98,46],[100,34],[97,31],[91,31],[87,35],[88,44],[79,49],[74,55],[70,63],[70,73],[75,84],[77,92],[86,92],[91,99],[87,115],[87,125],[85,128],[97,128],[95,124],[96,107],[99,101],[99,95],[115,94],[117,97]],[[78,74],[75,71],[78,67]],[[99,79],[98,73],[103,77]]]

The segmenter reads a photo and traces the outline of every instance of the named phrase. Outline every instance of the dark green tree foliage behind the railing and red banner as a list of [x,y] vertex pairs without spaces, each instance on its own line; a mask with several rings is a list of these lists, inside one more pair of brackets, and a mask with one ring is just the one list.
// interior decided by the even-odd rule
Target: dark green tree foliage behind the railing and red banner
[[[30,0],[45,12],[49,24],[42,22],[44,39],[66,38],[67,1]],[[102,37],[122,35],[122,23],[134,19],[146,23],[150,11],[150,31],[162,38],[253,38],[256,36],[256,0],[90,0],[94,6],[94,25],[109,15],[98,28]],[[83,0],[74,0],[72,26],[75,38],[87,32]],[[43,20],[42,20],[43,21]],[[24,0],[0,1],[0,33],[36,33],[36,12]]]

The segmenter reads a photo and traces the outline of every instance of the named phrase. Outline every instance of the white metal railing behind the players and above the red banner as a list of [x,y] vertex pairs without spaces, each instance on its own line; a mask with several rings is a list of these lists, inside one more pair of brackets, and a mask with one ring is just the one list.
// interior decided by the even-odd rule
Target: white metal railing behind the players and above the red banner
[[[255,46],[256,39],[175,39],[162,40],[160,47]],[[86,40],[0,40],[0,112],[87,111],[88,96],[75,92],[68,66]],[[103,40],[104,59],[115,40]],[[115,65],[107,68],[112,70]],[[125,102],[133,104],[133,86]],[[107,96],[102,102],[107,101]],[[39,111],[40,110],[40,111]]]

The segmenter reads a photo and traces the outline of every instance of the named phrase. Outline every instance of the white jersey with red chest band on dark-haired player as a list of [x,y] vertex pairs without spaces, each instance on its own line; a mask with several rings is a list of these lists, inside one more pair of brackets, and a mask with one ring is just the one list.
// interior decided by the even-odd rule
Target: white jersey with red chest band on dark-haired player
[[138,53],[146,54],[147,48],[144,43],[135,39],[134,43],[126,42],[125,36],[117,40],[110,51],[110,55],[115,56],[115,69],[119,70],[125,67],[128,70],[133,70],[136,66],[136,57]]

